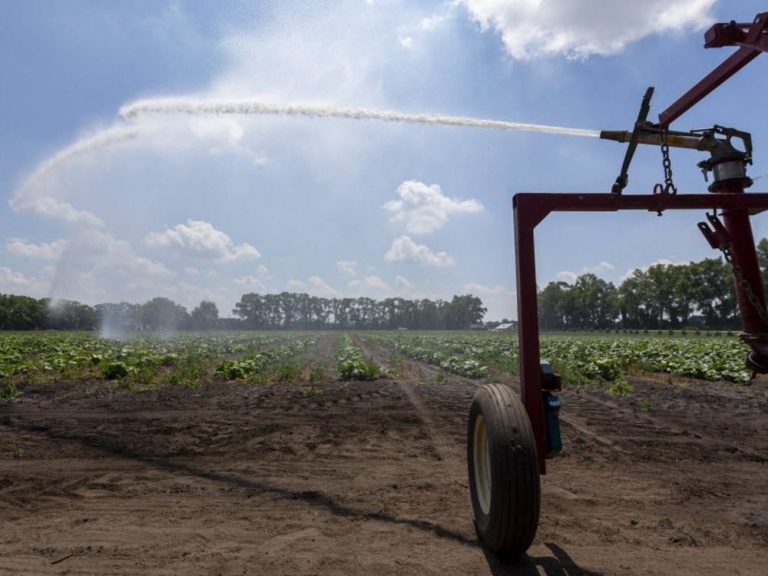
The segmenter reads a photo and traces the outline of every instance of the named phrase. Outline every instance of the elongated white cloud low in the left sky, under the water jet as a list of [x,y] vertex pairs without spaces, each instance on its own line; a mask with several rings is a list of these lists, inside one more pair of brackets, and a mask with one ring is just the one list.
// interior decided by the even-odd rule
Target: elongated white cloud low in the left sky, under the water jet
[[173,250],[182,256],[217,262],[261,257],[250,244],[236,246],[224,232],[203,220],[187,220],[186,224],[177,224],[165,232],[150,232],[144,244],[151,248]]

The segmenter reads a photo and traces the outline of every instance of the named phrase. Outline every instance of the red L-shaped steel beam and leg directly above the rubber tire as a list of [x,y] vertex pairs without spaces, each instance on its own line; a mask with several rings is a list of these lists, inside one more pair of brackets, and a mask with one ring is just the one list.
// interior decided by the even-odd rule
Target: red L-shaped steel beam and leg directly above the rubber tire
[[[743,189],[741,189],[743,191]],[[734,190],[737,192],[738,190]],[[728,191],[724,191],[728,192]],[[539,471],[546,473],[546,432],[540,372],[539,316],[536,289],[534,229],[552,212],[616,212],[619,210],[710,210],[749,220],[749,215],[768,210],[768,193],[749,194],[605,194],[520,193],[513,201],[517,270],[518,345],[520,350],[520,396],[531,421],[539,458]],[[728,224],[726,222],[726,224]],[[732,229],[743,229],[741,222]],[[751,232],[750,232],[751,233]],[[747,239],[749,240],[749,239]],[[754,243],[751,245],[754,255]],[[739,252],[749,254],[749,250]],[[751,268],[751,263],[747,268]],[[743,311],[742,311],[743,313]],[[754,315],[754,313],[752,313]],[[752,322],[754,321],[754,322]],[[757,326],[759,319],[747,319]],[[747,330],[749,331],[749,330]]]

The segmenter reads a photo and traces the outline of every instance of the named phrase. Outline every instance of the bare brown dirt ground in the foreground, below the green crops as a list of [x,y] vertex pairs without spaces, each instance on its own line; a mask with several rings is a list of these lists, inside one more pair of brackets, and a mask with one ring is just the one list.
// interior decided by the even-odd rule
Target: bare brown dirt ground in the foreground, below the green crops
[[0,404],[2,574],[768,574],[768,386],[563,394],[529,556],[478,545],[477,382],[28,387]]

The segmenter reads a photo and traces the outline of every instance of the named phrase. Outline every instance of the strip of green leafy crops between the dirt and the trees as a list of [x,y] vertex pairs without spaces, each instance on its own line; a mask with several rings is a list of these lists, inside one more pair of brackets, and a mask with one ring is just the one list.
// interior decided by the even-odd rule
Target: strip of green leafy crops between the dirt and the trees
[[[325,338],[334,343],[321,353],[314,345]],[[517,340],[507,334],[232,332],[115,341],[90,333],[0,333],[0,397],[14,396],[17,386],[30,382],[114,380],[127,387],[149,387],[387,377],[361,344],[469,378],[517,373]],[[571,385],[622,382],[632,373],[731,382],[751,376],[744,368],[746,347],[737,338],[543,336],[541,353]],[[318,354],[327,358],[318,359]]]

